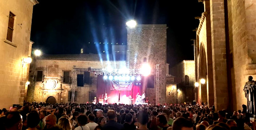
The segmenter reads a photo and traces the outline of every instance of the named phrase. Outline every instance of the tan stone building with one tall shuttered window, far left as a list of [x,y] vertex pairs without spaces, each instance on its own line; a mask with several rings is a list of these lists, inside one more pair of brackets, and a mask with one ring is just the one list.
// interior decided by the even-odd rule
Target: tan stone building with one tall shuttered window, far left
[[0,109],[23,104],[30,65],[33,5],[37,0],[0,1]]

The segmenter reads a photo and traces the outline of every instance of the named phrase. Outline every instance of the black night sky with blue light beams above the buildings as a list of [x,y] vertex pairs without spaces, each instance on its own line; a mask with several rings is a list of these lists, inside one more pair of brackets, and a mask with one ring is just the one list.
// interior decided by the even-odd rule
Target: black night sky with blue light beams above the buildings
[[[45,54],[103,53],[126,45],[126,22],[167,24],[167,63],[193,60],[195,29],[204,11],[198,0],[38,0],[33,7],[33,49]],[[101,48],[96,49],[96,44]],[[103,44],[103,42],[106,42]],[[106,53],[106,52],[105,52]],[[110,52],[111,53],[111,52]]]

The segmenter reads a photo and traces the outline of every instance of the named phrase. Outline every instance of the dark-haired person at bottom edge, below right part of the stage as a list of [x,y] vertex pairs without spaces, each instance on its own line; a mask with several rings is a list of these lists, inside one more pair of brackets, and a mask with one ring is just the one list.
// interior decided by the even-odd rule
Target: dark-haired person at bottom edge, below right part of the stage
[[149,120],[148,113],[145,111],[140,111],[137,117],[137,122],[139,124],[139,128],[137,128],[137,130],[148,130],[147,128],[148,120]]

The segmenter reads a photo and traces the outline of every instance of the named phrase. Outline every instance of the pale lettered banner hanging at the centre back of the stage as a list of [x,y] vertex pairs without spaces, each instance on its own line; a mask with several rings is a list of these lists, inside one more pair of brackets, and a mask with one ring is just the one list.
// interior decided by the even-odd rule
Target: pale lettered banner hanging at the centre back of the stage
[[133,82],[131,84],[125,84],[125,82],[119,82],[119,84],[115,84],[115,82],[111,82],[110,90],[117,90],[117,91],[132,91]]

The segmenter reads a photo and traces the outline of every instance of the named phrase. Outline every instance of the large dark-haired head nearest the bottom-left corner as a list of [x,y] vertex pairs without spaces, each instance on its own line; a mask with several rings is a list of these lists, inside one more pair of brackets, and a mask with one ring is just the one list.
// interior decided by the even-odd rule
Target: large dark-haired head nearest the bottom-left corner
[[6,114],[6,130],[21,130],[22,126],[22,116],[19,112],[9,112]]

